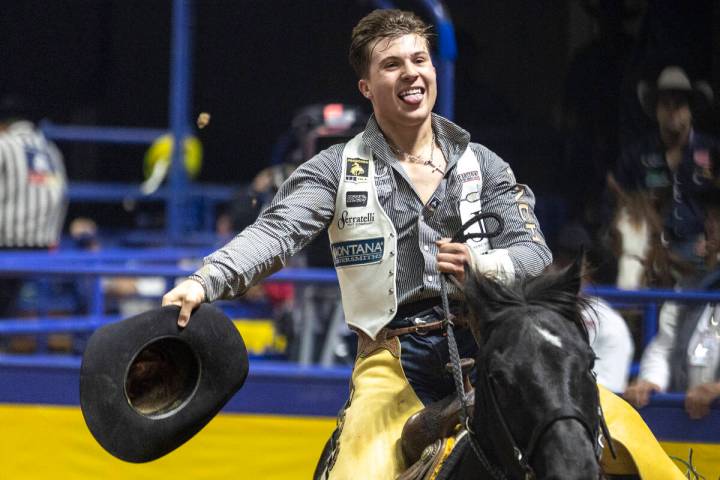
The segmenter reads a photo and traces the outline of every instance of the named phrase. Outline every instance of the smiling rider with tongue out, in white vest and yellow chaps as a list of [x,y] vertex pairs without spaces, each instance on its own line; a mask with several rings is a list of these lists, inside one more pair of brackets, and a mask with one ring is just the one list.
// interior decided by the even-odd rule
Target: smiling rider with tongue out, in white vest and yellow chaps
[[[328,231],[358,356],[318,478],[394,479],[406,468],[398,439],[407,418],[454,392],[438,314],[441,272],[462,280],[467,264],[514,281],[551,262],[532,191],[465,130],[432,113],[428,38],[409,12],[363,18],[350,63],[372,104],[365,131],[301,165],[253,225],[163,298],[181,307],[184,326],[201,302],[242,295]],[[500,215],[504,230],[490,240],[449,242],[479,211]],[[449,296],[457,302],[461,292],[449,285]],[[456,336],[461,356],[474,357],[471,332],[460,328]]]

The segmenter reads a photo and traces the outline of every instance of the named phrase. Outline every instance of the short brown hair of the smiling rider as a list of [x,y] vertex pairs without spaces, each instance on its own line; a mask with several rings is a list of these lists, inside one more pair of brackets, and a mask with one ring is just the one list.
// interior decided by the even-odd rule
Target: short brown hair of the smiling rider
[[394,39],[403,35],[418,35],[430,48],[430,26],[412,12],[403,10],[373,10],[353,28],[350,40],[350,65],[359,78],[365,78],[370,68],[371,47],[376,40]]

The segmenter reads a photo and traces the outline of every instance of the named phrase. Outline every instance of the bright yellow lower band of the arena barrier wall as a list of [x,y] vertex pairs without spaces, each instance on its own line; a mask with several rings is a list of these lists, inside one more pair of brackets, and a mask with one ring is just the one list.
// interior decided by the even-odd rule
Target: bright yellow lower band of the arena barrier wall
[[[78,407],[0,405],[0,480],[307,480],[335,419],[223,413],[159,460],[126,463],[92,438]],[[663,443],[720,476],[720,445]],[[684,471],[684,469],[683,469]]]

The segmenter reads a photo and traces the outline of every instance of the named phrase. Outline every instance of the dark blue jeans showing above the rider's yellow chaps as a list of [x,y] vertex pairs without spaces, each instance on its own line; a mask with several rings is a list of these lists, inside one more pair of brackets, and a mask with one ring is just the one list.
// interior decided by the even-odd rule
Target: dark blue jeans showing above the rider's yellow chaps
[[[478,347],[470,329],[456,328],[454,332],[460,358],[475,359]],[[452,375],[445,368],[450,361],[446,336],[435,332],[401,335],[400,346],[400,362],[405,376],[423,404],[428,405],[455,392]],[[475,369],[470,379],[474,383]]]

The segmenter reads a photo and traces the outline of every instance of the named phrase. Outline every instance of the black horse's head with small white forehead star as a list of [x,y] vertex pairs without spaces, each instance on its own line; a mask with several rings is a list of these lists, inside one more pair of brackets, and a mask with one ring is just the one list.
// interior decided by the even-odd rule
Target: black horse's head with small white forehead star
[[507,478],[599,478],[600,403],[580,315],[580,262],[511,287],[467,278],[480,347],[476,447]]

